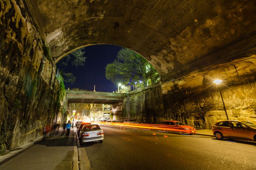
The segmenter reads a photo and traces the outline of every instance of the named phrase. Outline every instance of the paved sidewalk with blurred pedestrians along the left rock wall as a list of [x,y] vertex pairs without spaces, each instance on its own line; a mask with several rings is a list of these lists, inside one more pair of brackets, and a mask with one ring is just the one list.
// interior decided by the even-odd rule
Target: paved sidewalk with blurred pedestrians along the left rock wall
[[14,151],[0,156],[0,170],[73,170],[78,169],[78,155],[75,129],[70,130],[70,136],[62,135],[62,129],[57,135],[42,137],[26,143]]

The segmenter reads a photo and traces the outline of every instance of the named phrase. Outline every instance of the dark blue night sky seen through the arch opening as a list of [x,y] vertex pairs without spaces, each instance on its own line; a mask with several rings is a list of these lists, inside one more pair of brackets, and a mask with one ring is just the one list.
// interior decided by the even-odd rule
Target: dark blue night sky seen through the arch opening
[[65,60],[62,58],[57,63],[57,69],[65,73],[73,73],[76,77],[75,83],[72,85],[64,81],[65,89],[79,88],[89,91],[95,90],[98,92],[113,92],[117,89],[117,85],[113,84],[105,77],[105,67],[108,63],[112,63],[117,55],[117,52],[122,47],[116,45],[99,44],[83,48],[85,51],[86,62],[85,66],[75,67],[68,62],[68,66],[62,66],[60,63]]

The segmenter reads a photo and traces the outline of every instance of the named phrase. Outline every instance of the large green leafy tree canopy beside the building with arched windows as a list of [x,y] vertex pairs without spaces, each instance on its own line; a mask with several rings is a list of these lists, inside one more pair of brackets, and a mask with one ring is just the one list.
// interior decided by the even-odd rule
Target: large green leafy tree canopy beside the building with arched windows
[[142,80],[146,84],[148,71],[155,71],[145,58],[132,50],[122,48],[116,57],[105,68],[106,78],[113,83],[127,84]]

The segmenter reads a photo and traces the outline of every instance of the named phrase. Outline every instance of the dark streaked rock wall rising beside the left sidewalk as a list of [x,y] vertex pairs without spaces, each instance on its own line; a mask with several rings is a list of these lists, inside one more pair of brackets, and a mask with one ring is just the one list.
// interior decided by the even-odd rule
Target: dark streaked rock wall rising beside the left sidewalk
[[58,82],[23,1],[0,1],[0,153],[42,135],[56,115]]

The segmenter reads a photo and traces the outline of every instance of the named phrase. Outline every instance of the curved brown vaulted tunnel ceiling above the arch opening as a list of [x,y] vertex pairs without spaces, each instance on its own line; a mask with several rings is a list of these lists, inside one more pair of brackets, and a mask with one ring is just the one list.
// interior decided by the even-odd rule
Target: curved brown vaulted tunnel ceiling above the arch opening
[[256,51],[253,0],[25,2],[57,62],[82,46],[119,45],[144,56],[167,82]]

